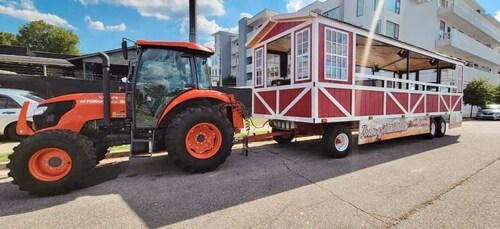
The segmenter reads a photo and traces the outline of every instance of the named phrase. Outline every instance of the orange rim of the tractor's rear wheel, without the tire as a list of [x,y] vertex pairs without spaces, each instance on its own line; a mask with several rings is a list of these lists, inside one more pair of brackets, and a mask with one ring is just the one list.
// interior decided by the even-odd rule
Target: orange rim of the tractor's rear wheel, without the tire
[[186,149],[197,159],[213,157],[222,146],[222,134],[211,123],[199,123],[193,126],[186,135]]

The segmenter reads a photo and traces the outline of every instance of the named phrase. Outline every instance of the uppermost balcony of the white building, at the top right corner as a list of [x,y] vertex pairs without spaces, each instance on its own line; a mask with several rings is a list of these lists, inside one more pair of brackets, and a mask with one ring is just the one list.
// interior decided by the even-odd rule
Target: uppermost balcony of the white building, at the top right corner
[[500,46],[500,28],[462,0],[452,1],[448,7],[440,8],[438,15],[449,20],[465,33],[475,35],[478,40]]

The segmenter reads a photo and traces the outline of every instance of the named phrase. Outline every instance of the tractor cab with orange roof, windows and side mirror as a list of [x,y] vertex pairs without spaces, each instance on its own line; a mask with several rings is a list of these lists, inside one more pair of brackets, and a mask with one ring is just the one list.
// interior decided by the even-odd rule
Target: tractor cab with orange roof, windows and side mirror
[[[191,42],[138,40],[138,58],[130,64],[127,105],[137,128],[156,128],[165,108],[180,94],[209,89],[207,58],[213,51]],[[122,42],[124,58],[127,43]]]

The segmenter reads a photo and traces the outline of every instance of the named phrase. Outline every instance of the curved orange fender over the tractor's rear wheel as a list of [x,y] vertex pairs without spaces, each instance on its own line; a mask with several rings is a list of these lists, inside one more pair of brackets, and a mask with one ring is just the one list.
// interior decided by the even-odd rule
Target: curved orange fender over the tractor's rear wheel
[[168,104],[167,108],[163,111],[162,115],[158,119],[158,125],[164,120],[165,117],[175,109],[178,105],[183,104],[186,101],[190,100],[195,100],[195,99],[211,99],[211,100],[216,100],[220,101],[221,103],[231,103],[232,98],[228,96],[227,94],[224,94],[219,91],[214,91],[214,90],[190,90],[187,91],[178,97],[176,97],[174,100]]

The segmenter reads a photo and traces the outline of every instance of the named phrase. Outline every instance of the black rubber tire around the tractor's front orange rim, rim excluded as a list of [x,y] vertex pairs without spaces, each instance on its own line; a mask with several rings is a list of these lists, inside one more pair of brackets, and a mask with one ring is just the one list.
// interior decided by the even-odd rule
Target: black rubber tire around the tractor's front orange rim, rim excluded
[[[73,177],[68,178],[74,180],[68,182],[67,185],[49,187],[49,185],[43,185],[43,182],[33,182],[32,179],[35,178],[27,178],[31,175],[29,175],[27,165],[24,163],[27,163],[27,160],[29,160],[29,157],[32,155],[32,153],[28,152],[29,149],[32,147],[36,148],[40,143],[52,140],[67,143],[69,147],[78,147],[80,149],[78,152],[81,153],[81,158],[84,159],[83,161],[77,162],[73,159],[73,166],[75,163],[81,163],[82,171],[78,174],[72,174],[73,171],[71,171],[70,174],[72,174]],[[28,157],[26,158],[26,156]],[[21,141],[18,146],[14,147],[14,153],[9,155],[9,160],[10,162],[7,164],[7,168],[10,169],[10,172],[8,175],[13,178],[12,183],[19,186],[19,190],[28,191],[32,195],[53,196],[81,188],[85,183],[85,178],[95,167],[96,155],[94,145],[89,138],[68,130],[48,130],[38,132]],[[70,176],[70,174],[67,176]]]

